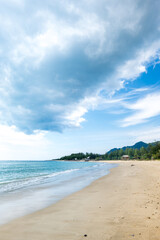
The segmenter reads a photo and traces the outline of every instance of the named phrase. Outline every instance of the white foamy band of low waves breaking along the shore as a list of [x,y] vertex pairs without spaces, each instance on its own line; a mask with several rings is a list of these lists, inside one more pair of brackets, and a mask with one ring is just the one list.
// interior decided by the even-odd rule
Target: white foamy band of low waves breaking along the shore
[[[60,163],[58,163],[60,164]],[[70,164],[70,163],[69,163]],[[75,164],[75,163],[73,163]],[[37,173],[35,172],[25,172],[25,174],[20,173],[19,175],[14,175],[13,179],[5,179],[0,181],[0,193],[7,193],[7,192],[13,192],[20,189],[26,189],[26,188],[32,188],[32,187],[43,187],[45,184],[48,185],[55,185],[60,184],[65,181],[70,181],[76,178],[79,178],[81,176],[89,176],[92,175],[91,178],[95,178],[95,176],[99,175],[99,171],[106,171],[106,163],[94,163],[93,165],[85,164],[85,167],[83,165],[78,165],[77,167],[80,168],[71,168],[63,171],[54,171],[52,173],[44,173],[39,172],[38,175],[33,176],[33,174]],[[72,166],[73,167],[73,166]],[[23,169],[25,170],[25,167],[23,166]],[[31,168],[29,170],[32,170]],[[43,170],[43,169],[42,169]],[[60,169],[59,169],[60,170]],[[30,176],[29,176],[30,174]],[[87,177],[86,177],[87,178]]]

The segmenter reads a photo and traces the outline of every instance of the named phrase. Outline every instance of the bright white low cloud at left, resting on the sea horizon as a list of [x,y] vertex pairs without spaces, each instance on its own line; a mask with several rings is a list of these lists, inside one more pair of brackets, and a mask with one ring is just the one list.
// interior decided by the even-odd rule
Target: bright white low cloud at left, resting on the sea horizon
[[[47,139],[45,131],[35,131],[28,135],[15,126],[0,125],[0,133],[0,160],[46,159],[54,149],[54,144]],[[54,155],[53,152],[52,154]]]

